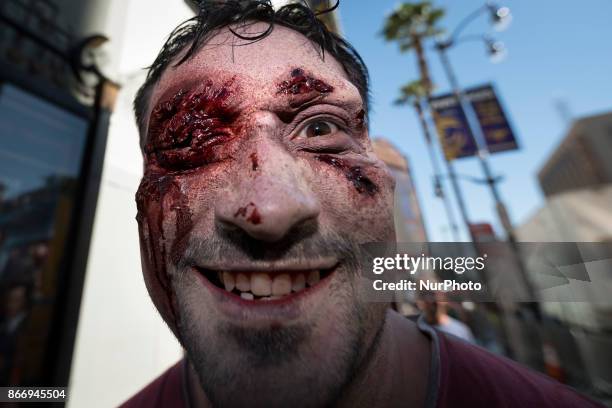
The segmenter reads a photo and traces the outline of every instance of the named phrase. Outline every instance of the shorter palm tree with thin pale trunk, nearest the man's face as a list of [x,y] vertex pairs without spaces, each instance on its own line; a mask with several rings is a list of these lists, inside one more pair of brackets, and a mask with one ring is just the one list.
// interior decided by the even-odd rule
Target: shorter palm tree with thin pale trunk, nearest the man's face
[[435,147],[431,138],[431,131],[429,130],[427,119],[425,119],[425,112],[423,111],[423,100],[428,97],[428,94],[431,92],[431,88],[432,87],[430,85],[428,89],[422,80],[409,82],[400,88],[400,96],[394,103],[396,105],[412,105],[417,113],[417,116],[419,117],[419,123],[421,124],[421,128],[423,128],[423,135],[425,135],[425,140],[427,141],[429,159],[431,160],[434,171],[434,191],[436,196],[440,197],[444,201],[444,207],[446,209],[446,215],[450,224],[451,233],[453,234],[453,239],[455,241],[459,241],[459,227],[455,221],[455,215],[453,213],[450,201],[444,193],[440,176],[440,164],[438,163],[438,157],[436,156]]

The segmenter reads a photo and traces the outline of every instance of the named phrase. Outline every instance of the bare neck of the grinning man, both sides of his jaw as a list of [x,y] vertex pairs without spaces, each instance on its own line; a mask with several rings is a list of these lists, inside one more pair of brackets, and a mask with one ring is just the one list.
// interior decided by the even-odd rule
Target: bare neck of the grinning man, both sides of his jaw
[[[431,369],[432,345],[415,323],[389,310],[378,344],[367,364],[345,390],[340,407],[422,407]],[[190,408],[210,407],[195,370],[188,363]]]

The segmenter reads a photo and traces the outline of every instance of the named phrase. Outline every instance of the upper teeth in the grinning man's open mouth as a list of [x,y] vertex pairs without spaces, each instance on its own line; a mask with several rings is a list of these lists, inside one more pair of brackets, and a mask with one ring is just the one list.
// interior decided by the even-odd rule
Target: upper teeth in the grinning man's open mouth
[[299,273],[265,272],[228,272],[219,273],[219,279],[228,292],[238,289],[243,299],[252,300],[253,296],[263,299],[278,298],[293,292],[299,292],[308,286],[314,286],[321,280],[318,270]]

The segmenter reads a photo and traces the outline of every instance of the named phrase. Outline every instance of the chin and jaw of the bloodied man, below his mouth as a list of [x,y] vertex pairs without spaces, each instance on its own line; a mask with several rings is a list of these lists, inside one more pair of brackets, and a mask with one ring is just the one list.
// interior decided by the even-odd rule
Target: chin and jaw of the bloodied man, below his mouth
[[[205,302],[213,310],[201,309],[198,294],[210,292],[192,279],[175,286],[181,342],[215,406],[333,403],[384,322],[384,311],[360,304],[353,285],[339,277],[295,304],[233,304],[217,295]],[[226,303],[232,309],[220,306]]]

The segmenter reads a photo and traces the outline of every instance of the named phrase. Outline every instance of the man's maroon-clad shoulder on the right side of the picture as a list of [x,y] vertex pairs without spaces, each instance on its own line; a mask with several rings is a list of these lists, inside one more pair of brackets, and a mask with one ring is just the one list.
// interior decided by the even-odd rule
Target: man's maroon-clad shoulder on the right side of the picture
[[601,407],[551,378],[439,333],[438,407]]

